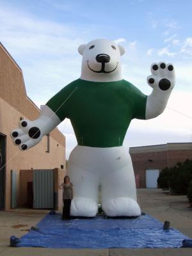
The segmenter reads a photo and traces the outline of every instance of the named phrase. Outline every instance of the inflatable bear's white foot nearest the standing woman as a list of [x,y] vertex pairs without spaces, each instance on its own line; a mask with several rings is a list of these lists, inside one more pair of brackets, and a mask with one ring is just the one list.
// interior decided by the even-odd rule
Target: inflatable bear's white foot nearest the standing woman
[[71,216],[94,217],[97,214],[97,202],[90,198],[74,197],[70,206]]

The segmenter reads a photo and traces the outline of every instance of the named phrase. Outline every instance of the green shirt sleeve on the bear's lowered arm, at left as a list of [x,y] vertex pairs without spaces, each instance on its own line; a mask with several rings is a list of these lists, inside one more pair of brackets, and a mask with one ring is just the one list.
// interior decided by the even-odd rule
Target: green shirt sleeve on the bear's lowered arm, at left
[[61,122],[68,117],[72,94],[77,89],[73,85],[74,84],[68,84],[46,103],[46,105],[56,113],[58,118],[60,118]]

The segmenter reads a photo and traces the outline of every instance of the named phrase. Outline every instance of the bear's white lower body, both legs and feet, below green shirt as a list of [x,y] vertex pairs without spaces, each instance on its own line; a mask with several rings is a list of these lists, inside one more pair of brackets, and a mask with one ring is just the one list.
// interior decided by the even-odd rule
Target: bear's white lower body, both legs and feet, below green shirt
[[68,159],[67,173],[74,184],[72,216],[95,216],[98,188],[108,216],[140,216],[131,157],[124,147],[77,146]]

